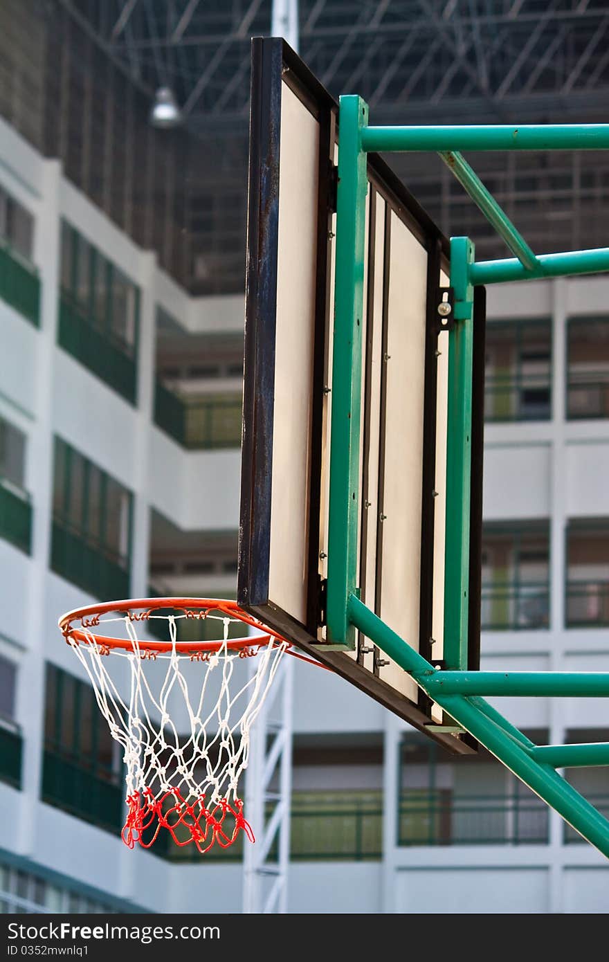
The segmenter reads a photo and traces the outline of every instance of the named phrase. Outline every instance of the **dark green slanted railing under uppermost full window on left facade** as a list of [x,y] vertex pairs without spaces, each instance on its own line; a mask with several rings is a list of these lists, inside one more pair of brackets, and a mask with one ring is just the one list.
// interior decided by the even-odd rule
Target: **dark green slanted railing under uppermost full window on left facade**
[[136,403],[137,364],[127,344],[103,332],[62,291],[60,297],[60,345],[114,391]]

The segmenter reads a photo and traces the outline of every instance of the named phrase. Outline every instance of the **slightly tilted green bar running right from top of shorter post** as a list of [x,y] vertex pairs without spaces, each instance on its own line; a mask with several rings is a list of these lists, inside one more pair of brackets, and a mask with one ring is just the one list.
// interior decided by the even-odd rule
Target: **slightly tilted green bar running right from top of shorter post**
[[538,254],[538,267],[528,270],[517,258],[505,261],[478,261],[469,266],[471,284],[501,284],[505,281],[526,281],[542,277],[562,277],[571,274],[595,274],[609,270],[609,247],[592,250],[568,250],[561,254]]

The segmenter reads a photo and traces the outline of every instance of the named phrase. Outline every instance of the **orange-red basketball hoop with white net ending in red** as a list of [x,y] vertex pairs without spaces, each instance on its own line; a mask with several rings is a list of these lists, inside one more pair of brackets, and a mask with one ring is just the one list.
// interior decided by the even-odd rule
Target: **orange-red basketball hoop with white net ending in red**
[[[215,623],[218,638],[178,641],[197,622]],[[252,634],[231,637],[243,624]],[[123,750],[125,845],[150,848],[162,828],[176,845],[194,844],[201,853],[215,843],[228,848],[241,831],[253,842],[239,778],[247,768],[251,725],[289,643],[235,601],[209,598],[111,601],[68,612],[59,625]],[[164,641],[138,635],[160,628]],[[239,678],[237,666],[249,658],[256,658],[255,670]],[[125,669],[121,688],[128,696],[118,687]],[[185,730],[178,730],[182,722],[172,712],[183,716]]]

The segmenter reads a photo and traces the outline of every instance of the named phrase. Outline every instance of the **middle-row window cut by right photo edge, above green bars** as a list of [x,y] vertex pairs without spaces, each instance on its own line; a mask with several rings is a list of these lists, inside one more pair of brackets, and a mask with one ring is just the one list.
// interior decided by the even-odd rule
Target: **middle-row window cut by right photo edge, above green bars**
[[566,622],[609,625],[609,519],[571,520],[567,527]]

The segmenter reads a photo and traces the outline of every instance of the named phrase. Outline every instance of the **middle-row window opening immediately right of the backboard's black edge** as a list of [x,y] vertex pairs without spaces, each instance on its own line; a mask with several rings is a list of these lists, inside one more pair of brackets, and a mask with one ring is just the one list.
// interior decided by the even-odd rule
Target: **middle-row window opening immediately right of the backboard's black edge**
[[531,630],[549,622],[549,522],[492,522],[482,534],[483,630]]

